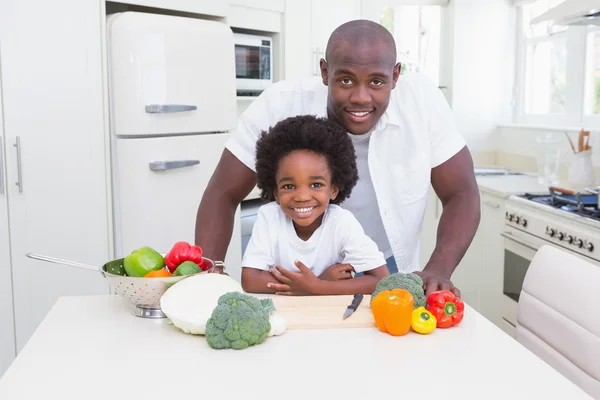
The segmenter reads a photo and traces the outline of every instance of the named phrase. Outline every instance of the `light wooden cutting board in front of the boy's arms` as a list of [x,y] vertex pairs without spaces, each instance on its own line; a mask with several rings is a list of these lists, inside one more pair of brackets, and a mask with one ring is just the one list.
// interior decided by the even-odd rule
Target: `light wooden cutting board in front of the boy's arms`
[[371,313],[371,296],[365,295],[358,309],[346,319],[344,311],[353,296],[275,296],[256,295],[272,299],[275,313],[287,322],[288,329],[342,329],[375,327]]

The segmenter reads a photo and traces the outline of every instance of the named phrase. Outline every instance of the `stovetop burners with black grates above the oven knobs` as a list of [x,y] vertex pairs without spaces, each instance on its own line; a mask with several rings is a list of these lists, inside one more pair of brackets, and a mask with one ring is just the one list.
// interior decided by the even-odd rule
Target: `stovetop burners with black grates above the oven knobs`
[[564,193],[550,192],[550,194],[525,193],[524,195],[519,195],[517,197],[600,221],[598,196],[595,194],[577,193],[575,195],[567,195]]

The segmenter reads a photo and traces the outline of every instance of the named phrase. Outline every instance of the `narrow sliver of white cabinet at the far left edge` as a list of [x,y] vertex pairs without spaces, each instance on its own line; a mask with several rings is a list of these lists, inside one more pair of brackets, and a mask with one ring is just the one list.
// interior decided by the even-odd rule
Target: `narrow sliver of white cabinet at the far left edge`
[[15,357],[12,277],[8,236],[8,196],[6,188],[6,142],[2,116],[2,76],[0,75],[0,376]]

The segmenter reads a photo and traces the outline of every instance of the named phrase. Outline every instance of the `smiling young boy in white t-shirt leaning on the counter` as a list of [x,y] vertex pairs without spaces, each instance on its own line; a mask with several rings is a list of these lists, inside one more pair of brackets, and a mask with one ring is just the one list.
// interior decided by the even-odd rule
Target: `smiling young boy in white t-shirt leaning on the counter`
[[279,122],[256,144],[256,178],[270,203],[258,211],[242,261],[246,292],[370,294],[389,275],[375,242],[337,205],[358,180],[342,127],[313,116]]

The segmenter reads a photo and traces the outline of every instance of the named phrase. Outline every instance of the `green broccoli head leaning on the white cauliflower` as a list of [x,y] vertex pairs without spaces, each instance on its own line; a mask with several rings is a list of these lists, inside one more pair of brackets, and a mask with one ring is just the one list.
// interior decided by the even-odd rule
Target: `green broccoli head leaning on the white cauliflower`
[[245,293],[225,293],[206,322],[208,345],[213,349],[243,350],[264,342],[271,330],[270,307],[272,303]]

